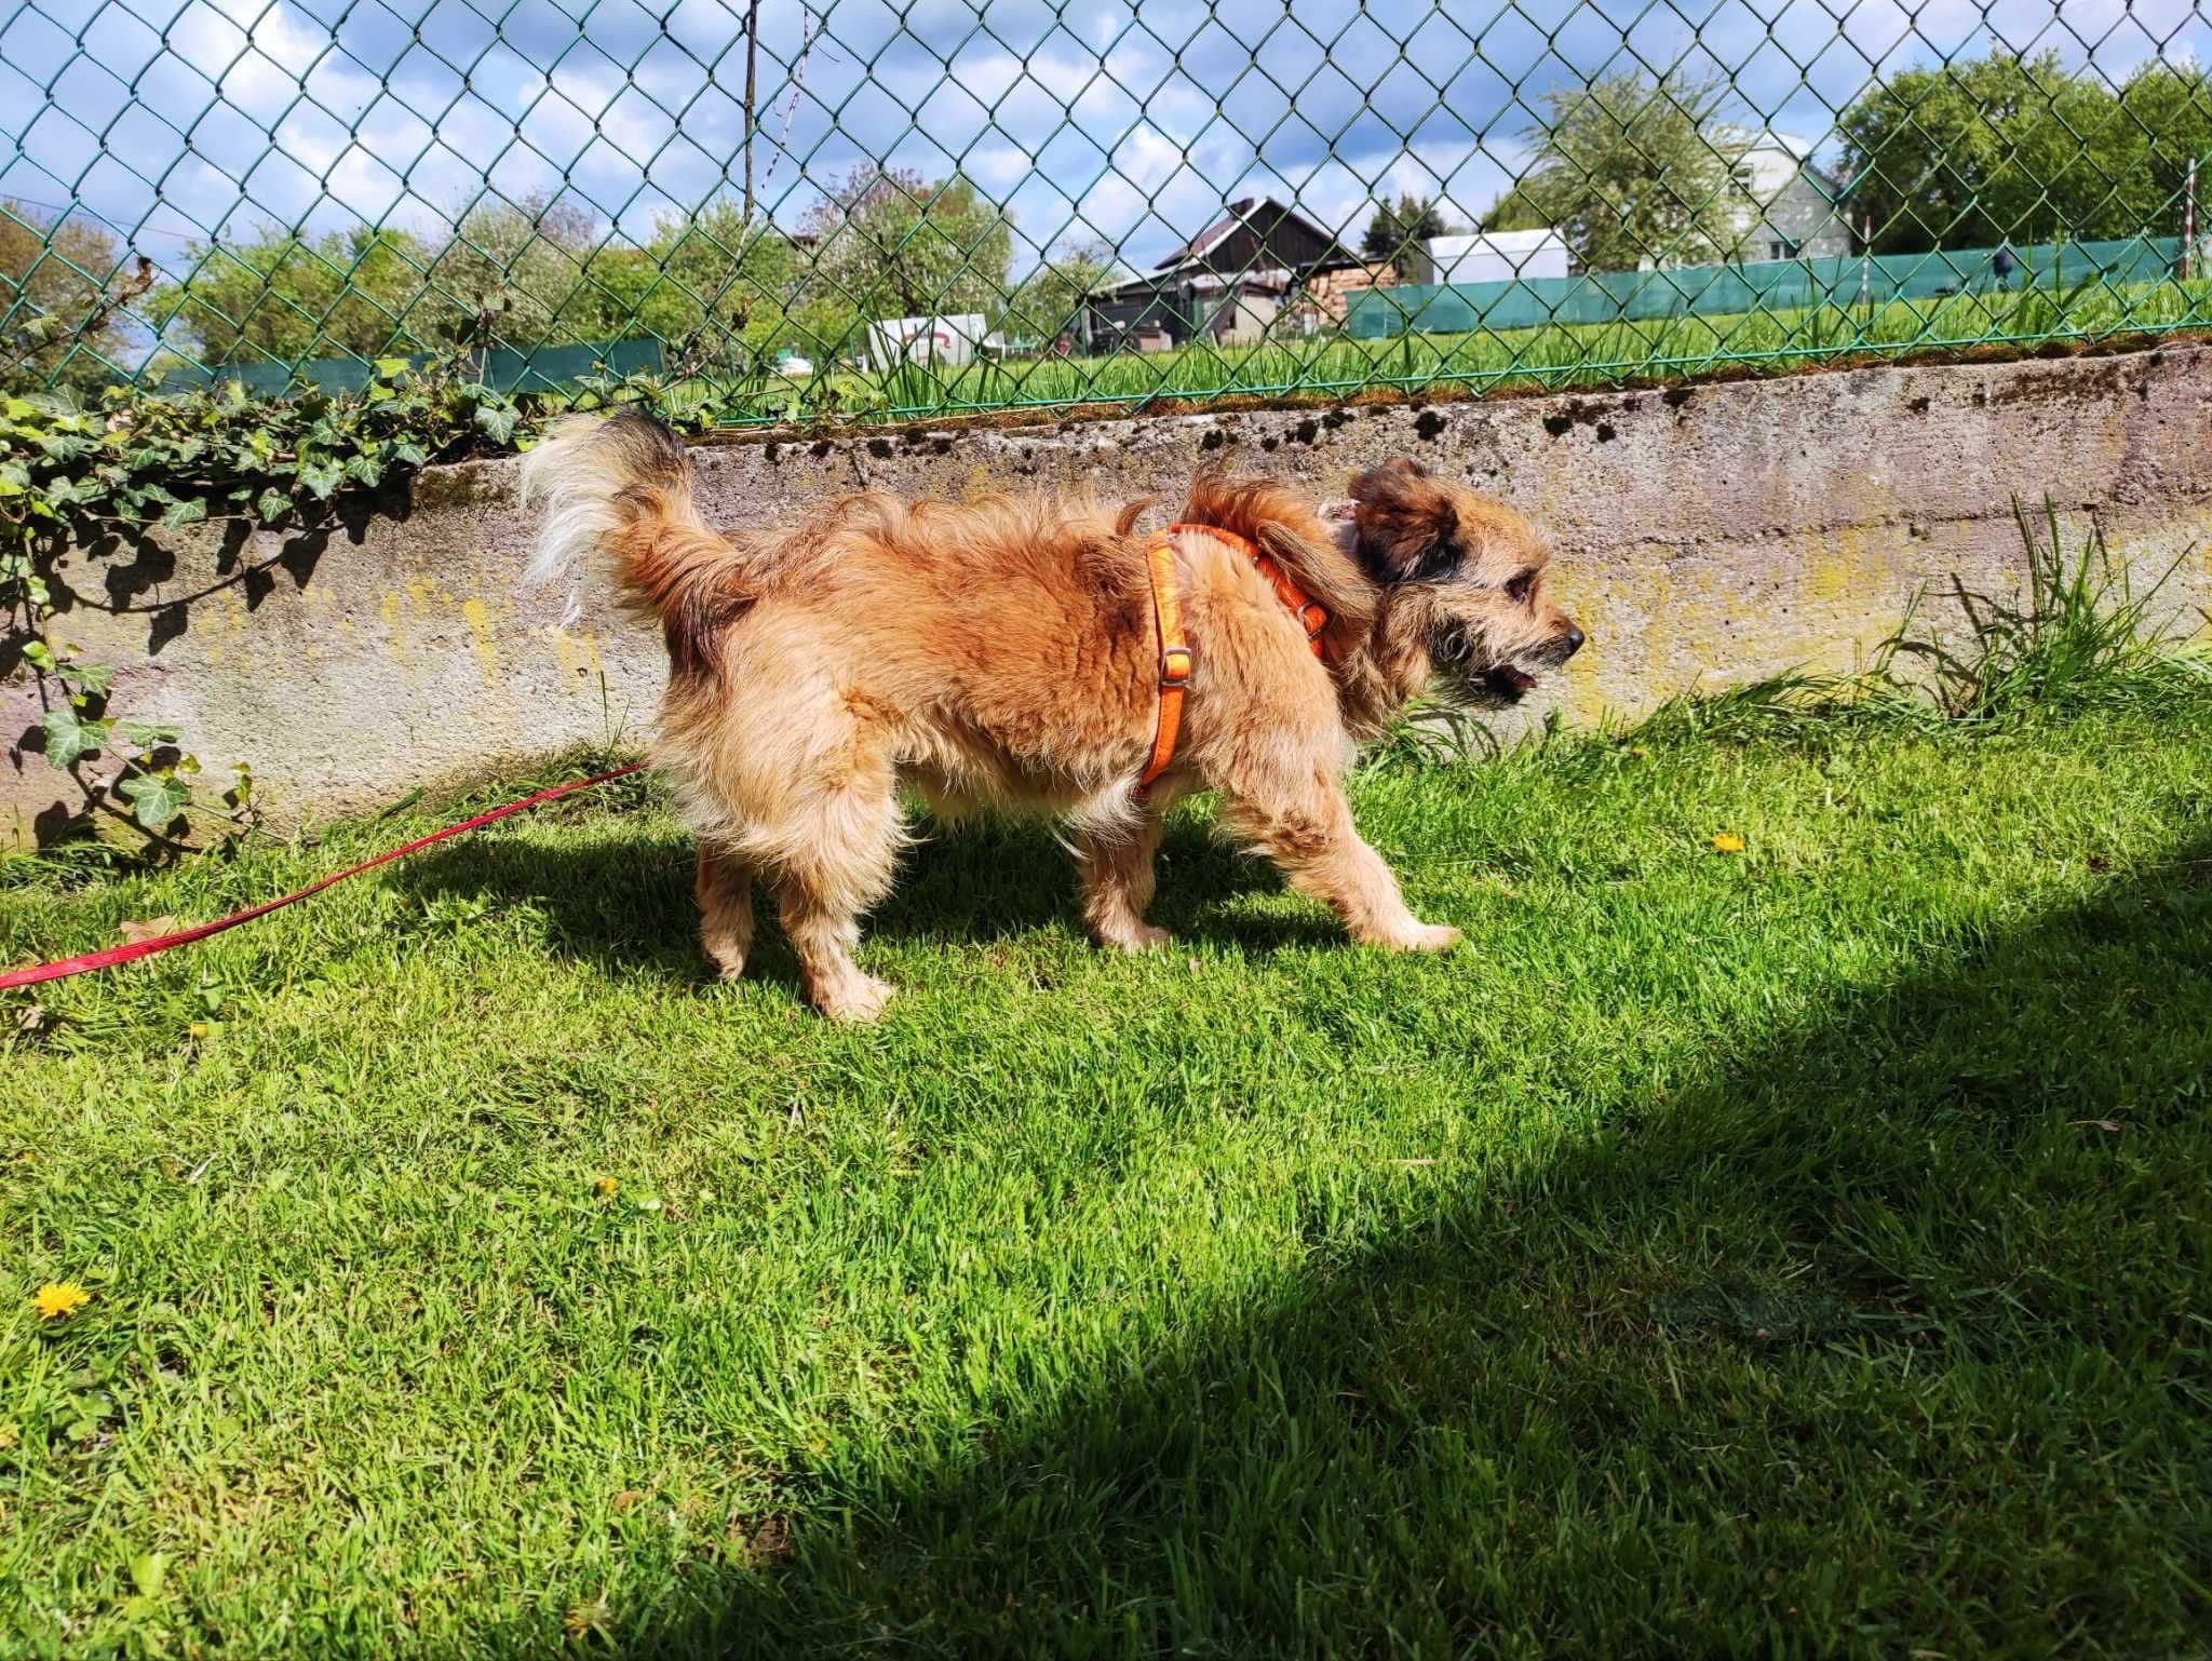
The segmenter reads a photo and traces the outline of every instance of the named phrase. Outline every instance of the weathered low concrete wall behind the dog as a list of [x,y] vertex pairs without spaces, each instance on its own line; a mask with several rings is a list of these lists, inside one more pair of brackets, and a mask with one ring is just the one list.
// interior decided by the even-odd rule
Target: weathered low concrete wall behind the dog
[[[748,440],[699,449],[697,471],[710,518],[757,522],[860,484],[1141,495],[1199,462],[1340,493],[1352,469],[1416,456],[1555,531],[1590,646],[1553,699],[1593,721],[1796,664],[1851,668],[1927,582],[2015,591],[2015,495],[2048,493],[2070,531],[2095,520],[2137,573],[2197,544],[2170,588],[2194,617],[2212,604],[2208,376],[2212,349],[2174,345],[1429,409]],[[279,816],[641,739],[659,639],[604,608],[562,630],[560,595],[515,593],[531,524],[513,489],[513,462],[473,462],[310,537],[199,529],[75,549],[53,633],[115,664],[115,706],[184,728],[210,772],[250,761]],[[0,838],[49,834],[82,807],[20,745],[35,721],[24,677],[0,681],[0,732],[18,743],[0,752]]]

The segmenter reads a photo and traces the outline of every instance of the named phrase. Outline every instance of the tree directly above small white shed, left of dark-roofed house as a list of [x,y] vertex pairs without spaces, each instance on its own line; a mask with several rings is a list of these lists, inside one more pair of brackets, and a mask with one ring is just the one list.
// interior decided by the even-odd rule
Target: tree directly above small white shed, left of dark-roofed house
[[1013,228],[973,184],[863,164],[801,226],[816,239],[810,299],[854,323],[989,312],[1006,303]]

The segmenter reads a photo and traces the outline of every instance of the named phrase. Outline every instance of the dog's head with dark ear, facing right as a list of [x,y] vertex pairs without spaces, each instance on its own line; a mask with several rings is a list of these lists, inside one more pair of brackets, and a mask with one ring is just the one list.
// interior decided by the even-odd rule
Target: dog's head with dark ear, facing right
[[1582,650],[1575,619],[1544,593],[1544,535],[1504,502],[1418,462],[1385,462],[1352,480],[1352,524],[1391,633],[1425,646],[1453,690],[1515,703]]

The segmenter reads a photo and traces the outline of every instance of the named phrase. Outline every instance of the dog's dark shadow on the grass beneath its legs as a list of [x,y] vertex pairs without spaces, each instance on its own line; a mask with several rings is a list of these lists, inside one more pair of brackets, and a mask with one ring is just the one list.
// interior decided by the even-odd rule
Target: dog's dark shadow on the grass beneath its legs
[[[1075,858],[1035,823],[916,825],[900,856],[898,882],[863,927],[863,940],[922,940],[951,947],[1006,940],[1037,929],[1084,936]],[[644,836],[546,847],[518,838],[465,838],[431,849],[394,876],[418,900],[465,898],[529,902],[553,922],[553,944],[606,971],[653,971],[677,982],[712,984],[699,951],[692,905],[692,849]],[[1343,942],[1318,909],[1254,916],[1234,907],[1250,891],[1281,889],[1281,878],[1188,818],[1161,847],[1152,920],[1175,936],[1217,940],[1252,953]],[[754,896],[761,916],[750,975],[799,986],[799,964],[774,922],[774,896]],[[863,947],[865,955],[865,947]]]

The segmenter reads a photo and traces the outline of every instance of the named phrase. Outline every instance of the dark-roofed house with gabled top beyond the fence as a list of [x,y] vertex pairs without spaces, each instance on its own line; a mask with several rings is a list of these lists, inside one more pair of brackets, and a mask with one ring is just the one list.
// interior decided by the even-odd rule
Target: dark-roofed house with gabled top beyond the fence
[[1274,197],[1245,197],[1150,272],[1091,292],[1084,334],[1093,352],[1208,336],[1245,345],[1325,274],[1358,265],[1336,239]]

